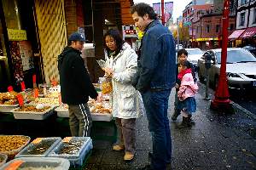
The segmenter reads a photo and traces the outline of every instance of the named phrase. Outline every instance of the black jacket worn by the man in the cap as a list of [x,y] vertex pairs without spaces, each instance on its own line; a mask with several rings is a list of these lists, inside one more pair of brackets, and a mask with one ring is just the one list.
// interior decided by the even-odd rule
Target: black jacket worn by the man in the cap
[[60,73],[61,100],[67,105],[80,105],[88,101],[88,97],[96,99],[96,89],[90,82],[89,74],[84,66],[81,52],[72,47],[64,48],[58,57]]

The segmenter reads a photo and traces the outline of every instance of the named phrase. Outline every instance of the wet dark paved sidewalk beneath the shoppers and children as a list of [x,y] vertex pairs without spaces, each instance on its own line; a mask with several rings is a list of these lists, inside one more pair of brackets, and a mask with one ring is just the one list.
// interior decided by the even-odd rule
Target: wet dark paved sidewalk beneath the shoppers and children
[[[256,120],[236,107],[236,114],[224,116],[211,111],[210,101],[204,99],[204,85],[196,94],[195,126],[177,129],[181,122],[171,121],[174,89],[170,95],[169,119],[172,133],[172,166],[181,170],[240,170],[256,169]],[[210,91],[212,99],[212,91]],[[94,149],[86,168],[90,170],[133,170],[148,164],[152,150],[147,117],[137,119],[137,155],[131,162],[123,161],[123,151],[113,151],[108,141],[94,141]]]

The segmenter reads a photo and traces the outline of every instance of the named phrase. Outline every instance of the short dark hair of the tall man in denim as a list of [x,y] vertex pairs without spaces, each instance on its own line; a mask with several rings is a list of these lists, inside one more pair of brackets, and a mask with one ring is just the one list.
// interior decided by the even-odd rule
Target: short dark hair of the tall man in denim
[[131,14],[137,12],[137,15],[143,17],[148,14],[150,20],[157,20],[157,14],[154,13],[154,8],[150,7],[147,3],[137,3],[131,7]]

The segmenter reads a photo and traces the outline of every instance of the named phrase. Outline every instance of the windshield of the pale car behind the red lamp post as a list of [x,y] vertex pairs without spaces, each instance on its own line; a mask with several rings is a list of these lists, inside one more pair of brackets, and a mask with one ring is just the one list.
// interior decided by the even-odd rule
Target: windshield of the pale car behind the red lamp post
[[[216,53],[216,59],[218,64],[221,62],[221,52]],[[256,58],[245,49],[241,50],[230,50],[227,54],[227,63],[237,63],[237,62],[256,62]]]

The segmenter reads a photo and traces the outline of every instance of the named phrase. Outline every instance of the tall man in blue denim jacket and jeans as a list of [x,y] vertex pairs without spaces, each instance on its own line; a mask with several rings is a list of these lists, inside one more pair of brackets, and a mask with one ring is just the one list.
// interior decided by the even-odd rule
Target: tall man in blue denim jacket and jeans
[[147,3],[132,6],[131,14],[135,26],[144,32],[133,86],[143,96],[153,140],[153,153],[148,154],[150,165],[143,169],[165,170],[172,156],[167,110],[169,95],[175,86],[175,42],[172,33],[160,24],[154,9]]

